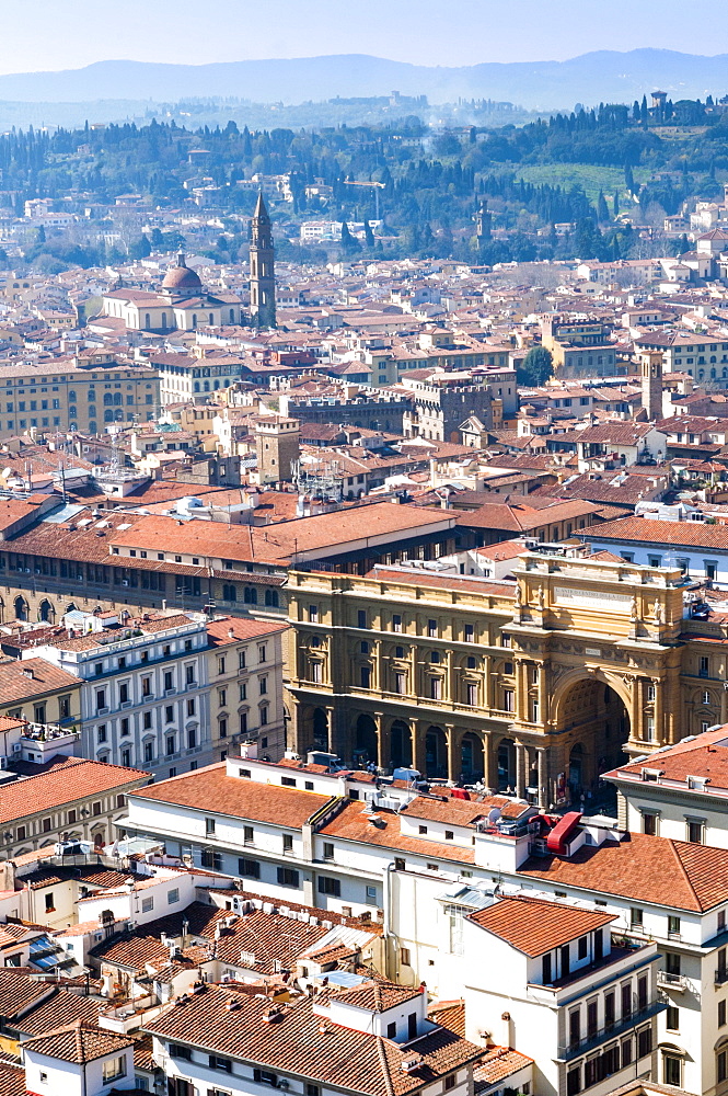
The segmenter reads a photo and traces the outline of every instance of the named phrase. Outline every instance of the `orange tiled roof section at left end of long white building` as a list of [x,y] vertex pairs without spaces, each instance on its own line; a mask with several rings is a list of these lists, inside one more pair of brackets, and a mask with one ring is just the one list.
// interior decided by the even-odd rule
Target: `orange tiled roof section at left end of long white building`
[[254,784],[245,778],[228,776],[226,762],[140,788],[134,796],[292,829],[302,826],[330,800],[328,796],[313,791]]

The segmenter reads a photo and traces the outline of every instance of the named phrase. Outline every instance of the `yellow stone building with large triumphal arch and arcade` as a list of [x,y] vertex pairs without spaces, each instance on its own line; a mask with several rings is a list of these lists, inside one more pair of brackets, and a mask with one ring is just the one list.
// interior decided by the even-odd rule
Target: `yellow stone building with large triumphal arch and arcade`
[[517,582],[377,567],[289,576],[296,749],[483,779],[550,807],[624,753],[728,718],[728,632],[678,569],[582,546],[531,551]]

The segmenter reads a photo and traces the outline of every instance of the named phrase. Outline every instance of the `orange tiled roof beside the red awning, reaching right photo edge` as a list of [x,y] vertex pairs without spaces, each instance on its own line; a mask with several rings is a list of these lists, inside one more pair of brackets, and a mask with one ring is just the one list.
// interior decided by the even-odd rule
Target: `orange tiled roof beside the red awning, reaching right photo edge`
[[728,899],[728,849],[632,833],[568,859],[530,857],[518,874],[558,887],[703,913]]

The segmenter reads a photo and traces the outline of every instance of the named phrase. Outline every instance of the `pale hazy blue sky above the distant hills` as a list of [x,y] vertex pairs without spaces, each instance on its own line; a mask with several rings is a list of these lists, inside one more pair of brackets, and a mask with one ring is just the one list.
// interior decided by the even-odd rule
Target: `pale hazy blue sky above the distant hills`
[[728,53],[727,0],[0,0],[0,72],[366,53],[421,65]]

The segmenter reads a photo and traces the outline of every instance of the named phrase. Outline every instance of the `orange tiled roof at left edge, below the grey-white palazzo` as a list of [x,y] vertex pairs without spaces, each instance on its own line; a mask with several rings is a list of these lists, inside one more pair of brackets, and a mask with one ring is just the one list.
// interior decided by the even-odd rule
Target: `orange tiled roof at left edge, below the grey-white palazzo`
[[149,773],[138,768],[78,758],[49,773],[0,788],[0,825],[149,779]]

